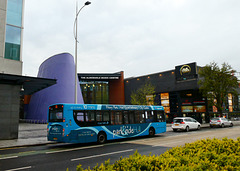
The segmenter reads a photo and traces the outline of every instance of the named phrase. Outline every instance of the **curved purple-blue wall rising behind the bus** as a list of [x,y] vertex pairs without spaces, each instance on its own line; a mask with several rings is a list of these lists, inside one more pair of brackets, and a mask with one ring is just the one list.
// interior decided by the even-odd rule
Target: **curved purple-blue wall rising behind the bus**
[[[45,122],[49,105],[74,103],[75,63],[73,56],[69,53],[62,53],[48,58],[39,67],[38,77],[57,80],[57,84],[33,94],[29,103],[26,119]],[[83,104],[79,84],[77,96],[78,103]]]

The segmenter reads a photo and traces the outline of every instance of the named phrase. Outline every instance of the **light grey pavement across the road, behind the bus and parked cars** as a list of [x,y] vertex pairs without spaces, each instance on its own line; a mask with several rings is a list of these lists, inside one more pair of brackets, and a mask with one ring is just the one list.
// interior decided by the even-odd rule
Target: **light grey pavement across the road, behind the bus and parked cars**
[[[240,121],[232,122],[233,125],[240,126]],[[209,127],[209,124],[202,124],[201,127]],[[167,131],[171,130],[171,124],[167,124]],[[0,149],[50,143],[56,142],[47,141],[47,124],[19,123],[18,139],[0,140]]]

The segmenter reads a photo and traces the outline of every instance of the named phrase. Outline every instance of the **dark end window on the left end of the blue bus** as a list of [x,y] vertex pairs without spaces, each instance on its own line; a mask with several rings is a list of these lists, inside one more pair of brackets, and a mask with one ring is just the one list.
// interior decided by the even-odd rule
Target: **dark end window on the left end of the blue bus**
[[49,122],[63,122],[62,105],[54,105],[49,107]]

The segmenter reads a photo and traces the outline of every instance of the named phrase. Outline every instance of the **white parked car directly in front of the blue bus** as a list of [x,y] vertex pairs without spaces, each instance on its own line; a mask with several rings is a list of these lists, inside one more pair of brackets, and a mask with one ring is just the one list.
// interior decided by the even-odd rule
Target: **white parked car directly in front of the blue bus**
[[191,117],[176,117],[173,119],[172,129],[174,132],[177,130],[185,130],[188,132],[189,130],[198,130],[200,128],[201,124]]

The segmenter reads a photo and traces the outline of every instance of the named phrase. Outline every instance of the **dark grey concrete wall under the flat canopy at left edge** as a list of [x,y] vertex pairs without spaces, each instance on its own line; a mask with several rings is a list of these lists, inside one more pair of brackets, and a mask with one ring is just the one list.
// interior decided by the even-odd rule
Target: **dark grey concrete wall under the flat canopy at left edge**
[[0,140],[18,138],[20,85],[0,84]]

